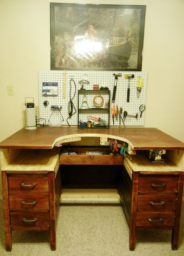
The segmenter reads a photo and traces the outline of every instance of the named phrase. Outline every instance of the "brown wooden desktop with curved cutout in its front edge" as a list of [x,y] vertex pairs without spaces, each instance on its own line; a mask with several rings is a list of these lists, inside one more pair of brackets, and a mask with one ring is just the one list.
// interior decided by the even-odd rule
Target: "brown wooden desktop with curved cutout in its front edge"
[[108,137],[127,142],[132,149],[184,149],[184,143],[156,128],[110,127],[109,129],[77,127],[25,128],[0,142],[0,148],[52,149],[57,141],[76,137]]

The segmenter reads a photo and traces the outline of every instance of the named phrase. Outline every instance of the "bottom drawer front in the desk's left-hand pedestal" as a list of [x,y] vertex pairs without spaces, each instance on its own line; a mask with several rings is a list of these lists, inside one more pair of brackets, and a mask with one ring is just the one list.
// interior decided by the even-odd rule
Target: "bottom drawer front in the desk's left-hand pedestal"
[[11,226],[49,226],[49,212],[11,212]]

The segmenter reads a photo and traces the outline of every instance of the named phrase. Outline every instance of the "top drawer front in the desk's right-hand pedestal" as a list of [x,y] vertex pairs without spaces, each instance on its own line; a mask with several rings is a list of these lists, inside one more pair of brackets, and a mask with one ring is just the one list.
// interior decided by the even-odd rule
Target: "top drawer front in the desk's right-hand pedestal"
[[177,175],[141,175],[139,192],[177,192]]

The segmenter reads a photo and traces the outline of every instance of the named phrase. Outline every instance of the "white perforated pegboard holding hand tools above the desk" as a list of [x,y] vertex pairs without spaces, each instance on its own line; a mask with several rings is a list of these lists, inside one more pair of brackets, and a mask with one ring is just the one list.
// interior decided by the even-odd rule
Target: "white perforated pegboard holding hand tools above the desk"
[[[83,79],[83,75],[88,75],[88,81],[90,84],[84,85],[85,89],[92,90],[94,84],[98,84],[99,87],[101,86],[108,86],[109,90],[111,91],[111,99],[113,96],[113,87],[115,83],[115,76],[113,73],[117,73],[116,71],[70,71],[67,70],[66,72],[66,96],[63,98],[63,70],[47,70],[47,71],[38,71],[38,81],[39,81],[39,110],[40,110],[40,118],[45,119],[46,124],[48,123],[49,117],[50,121],[54,125],[67,125],[67,118],[68,118],[68,102],[69,102],[69,92],[70,92],[70,81],[73,79],[76,84],[76,94],[73,99],[73,104],[76,108],[76,114],[68,119],[70,125],[77,125],[78,123],[78,89],[81,88],[81,85],[78,84],[80,80]],[[126,126],[144,126],[145,121],[145,113],[142,112],[142,117],[140,118],[141,112],[139,111],[140,105],[146,105],[146,87],[147,87],[147,72],[135,72],[135,71],[118,71],[118,73],[122,74],[122,77],[118,77],[117,80],[117,89],[116,89],[116,98],[115,104],[118,107],[122,107],[123,111],[126,110],[128,114],[136,115],[138,113],[137,119],[134,117],[126,117],[125,124]],[[124,78],[125,74],[133,74],[134,78],[130,79],[130,102],[127,102],[127,88],[128,88],[128,79]],[[143,78],[143,86],[141,90],[140,97],[137,98],[137,79],[138,77]],[[42,83],[43,82],[57,82],[58,83],[58,95],[57,96],[44,96],[42,95]],[[71,98],[73,98],[75,93],[75,84],[71,81]],[[44,101],[48,101],[48,105],[45,107],[43,105]],[[62,105],[62,109],[59,110],[52,110],[51,105]],[[79,104],[80,105],[80,104]],[[113,103],[111,103],[111,108],[113,107]],[[53,112],[52,112],[53,111]],[[86,110],[85,110],[86,111]],[[92,113],[89,113],[92,114]],[[62,116],[61,116],[62,115]],[[100,115],[100,112],[99,112]],[[62,117],[64,121],[62,122]],[[43,123],[43,122],[41,122]],[[121,122],[122,123],[122,122]],[[110,126],[113,125],[113,119],[110,118]],[[119,120],[116,121],[115,119],[115,126],[119,125]]]

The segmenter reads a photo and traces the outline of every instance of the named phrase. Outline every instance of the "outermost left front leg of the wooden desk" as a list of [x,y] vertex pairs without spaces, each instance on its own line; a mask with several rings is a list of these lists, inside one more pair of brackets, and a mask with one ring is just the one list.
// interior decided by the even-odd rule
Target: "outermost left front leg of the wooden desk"
[[12,250],[12,231],[10,230],[10,211],[9,211],[9,196],[8,196],[8,180],[6,171],[2,171],[2,192],[3,192],[3,213],[4,213],[4,228],[5,228],[5,244],[6,250]]

